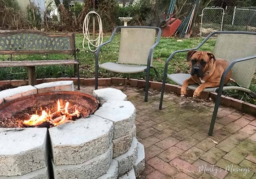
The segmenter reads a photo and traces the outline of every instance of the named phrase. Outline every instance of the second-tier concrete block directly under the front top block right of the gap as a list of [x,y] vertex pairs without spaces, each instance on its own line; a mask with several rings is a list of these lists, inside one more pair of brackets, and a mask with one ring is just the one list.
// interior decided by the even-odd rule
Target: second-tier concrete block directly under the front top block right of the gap
[[54,179],[96,179],[104,175],[111,165],[113,146],[91,160],[78,165],[53,164]]

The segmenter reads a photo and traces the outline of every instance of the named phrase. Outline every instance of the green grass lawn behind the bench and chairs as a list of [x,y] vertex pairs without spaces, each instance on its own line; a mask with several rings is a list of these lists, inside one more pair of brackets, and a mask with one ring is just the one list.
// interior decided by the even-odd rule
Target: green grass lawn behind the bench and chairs
[[[103,41],[106,42],[110,38],[111,34],[104,35]],[[87,44],[85,44],[86,49],[82,48],[82,34],[76,34],[76,47],[80,49],[79,60],[81,61],[80,65],[80,77],[92,78],[95,74],[95,55],[93,52],[88,50]],[[182,42],[177,41],[178,38],[163,38],[161,37],[160,43],[156,46],[154,55],[153,55],[153,65],[156,67],[159,72],[159,76],[156,77],[153,69],[150,73],[151,81],[162,81],[163,71],[165,67],[165,61],[171,55],[173,51],[193,48],[196,47],[202,42],[203,38],[189,38],[182,39]],[[116,34],[112,43],[108,43],[101,49],[100,52],[100,63],[107,61],[117,61],[118,52],[119,52],[119,42],[120,34]],[[200,50],[203,51],[213,51],[215,45],[215,38],[209,39],[204,43],[203,47]],[[0,55],[0,60],[8,60],[9,55]],[[69,55],[48,55],[48,59],[70,59]],[[13,60],[33,60],[41,59],[46,60],[46,55],[13,55]],[[64,66],[64,65],[53,65],[53,66],[41,66],[36,67],[36,76],[37,78],[49,78],[49,77],[72,77],[73,75],[73,66]],[[173,60],[169,63],[168,73],[188,73],[189,65],[186,60],[186,52],[179,53],[174,56]],[[144,79],[145,73],[135,73],[135,74],[121,74],[115,72],[109,72],[104,69],[100,69],[99,77],[129,77],[135,79]],[[9,79],[27,79],[27,68],[0,68],[0,80],[9,80]],[[168,81],[173,83],[172,81]],[[250,89],[256,91],[256,81],[252,81]],[[250,98],[247,94],[237,91],[229,91],[229,95],[234,98],[243,99],[245,101],[256,104],[256,100]]]

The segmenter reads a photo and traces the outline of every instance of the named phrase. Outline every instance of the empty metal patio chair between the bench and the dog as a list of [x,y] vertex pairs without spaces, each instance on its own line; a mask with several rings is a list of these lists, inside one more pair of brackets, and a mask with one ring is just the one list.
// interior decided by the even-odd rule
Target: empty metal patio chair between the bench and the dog
[[[99,64],[100,49],[113,41],[117,30],[121,29],[119,55],[117,63],[107,62]],[[156,30],[158,30],[156,38]],[[137,73],[146,71],[145,98],[148,101],[149,72],[152,66],[153,50],[159,43],[161,29],[147,26],[118,26],[113,31],[111,38],[102,43],[95,54],[95,90],[98,89],[98,70],[104,68],[112,72]],[[155,40],[156,38],[156,40]],[[157,72],[156,72],[157,74]]]

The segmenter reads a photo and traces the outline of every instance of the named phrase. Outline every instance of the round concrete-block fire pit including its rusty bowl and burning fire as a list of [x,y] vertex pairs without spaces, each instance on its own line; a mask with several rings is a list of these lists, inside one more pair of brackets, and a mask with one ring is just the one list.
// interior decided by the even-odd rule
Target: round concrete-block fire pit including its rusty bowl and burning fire
[[[120,90],[94,90],[96,99],[70,91],[15,95],[23,97],[0,105],[0,179],[135,179],[142,172],[135,107]],[[32,115],[43,120],[30,123]]]

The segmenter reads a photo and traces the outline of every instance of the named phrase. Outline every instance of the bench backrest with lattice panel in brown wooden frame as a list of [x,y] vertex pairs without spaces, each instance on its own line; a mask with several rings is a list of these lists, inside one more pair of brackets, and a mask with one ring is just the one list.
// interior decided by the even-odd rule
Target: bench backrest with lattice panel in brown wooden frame
[[38,30],[3,32],[0,33],[0,54],[75,54],[75,35]]

